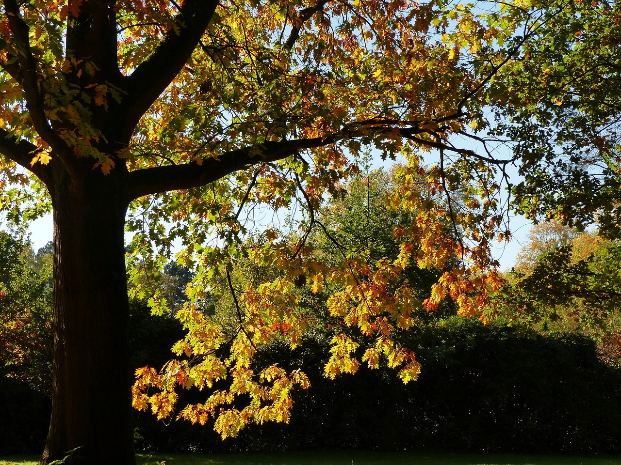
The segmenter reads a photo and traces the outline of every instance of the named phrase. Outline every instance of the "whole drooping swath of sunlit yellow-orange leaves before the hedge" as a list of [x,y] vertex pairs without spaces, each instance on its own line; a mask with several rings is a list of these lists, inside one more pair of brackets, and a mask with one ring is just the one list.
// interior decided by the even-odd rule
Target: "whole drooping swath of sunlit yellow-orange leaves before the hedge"
[[[215,428],[223,437],[237,434],[250,422],[288,421],[291,390],[307,387],[306,376],[300,371],[286,373],[278,365],[261,370],[253,361],[262,347],[274,341],[296,348],[321,324],[318,318],[322,317],[316,313],[301,311],[302,301],[308,298],[305,292],[325,299],[325,317],[333,322],[320,329],[335,332],[325,376],[333,379],[353,374],[361,363],[367,363],[372,369],[384,364],[397,370],[404,383],[417,379],[419,362],[396,337],[415,324],[416,312],[435,311],[444,299],[451,298],[460,314],[485,319],[487,294],[500,284],[487,246],[496,231],[494,221],[477,223],[484,217],[478,210],[484,208],[486,200],[476,200],[476,192],[467,188],[455,201],[471,213],[459,216],[451,213],[442,193],[437,167],[412,165],[399,170],[397,187],[387,207],[411,211],[413,220],[395,228],[401,245],[394,259],[369,260],[361,253],[326,261],[306,242],[280,237],[270,228],[263,242],[245,249],[243,258],[239,255],[233,259],[233,263],[250,263],[249,268],[240,268],[240,283],[231,278],[235,266],[231,267],[224,250],[210,249],[207,255],[207,249],[202,250],[202,256],[211,259],[203,264],[210,273],[199,275],[199,281],[205,281],[202,286],[189,286],[189,295],[195,300],[205,299],[206,294],[199,289],[228,282],[232,323],[225,326],[193,304],[179,311],[188,335],[173,350],[188,360],[171,361],[160,373],[139,371],[134,386],[137,408],[150,405],[155,414],[166,417],[175,411],[175,386],[207,387],[207,401],[184,407],[177,414],[179,418],[199,423],[214,418]],[[463,234],[456,236],[455,228]],[[468,236],[469,231],[479,233]],[[217,263],[222,268],[214,273],[214,268],[219,269]],[[417,283],[406,278],[407,269],[413,265],[442,271],[424,301]],[[256,270],[262,271],[252,275]],[[271,275],[273,278],[267,278]],[[156,393],[147,394],[149,389]],[[240,396],[250,399],[249,404],[242,401],[246,407],[236,407]]]

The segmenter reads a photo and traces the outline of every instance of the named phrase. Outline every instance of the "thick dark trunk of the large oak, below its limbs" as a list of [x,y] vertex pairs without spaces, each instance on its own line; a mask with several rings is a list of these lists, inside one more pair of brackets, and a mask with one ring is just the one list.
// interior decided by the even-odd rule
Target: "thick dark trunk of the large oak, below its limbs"
[[104,177],[96,170],[86,177],[91,179],[83,187],[65,178],[50,188],[54,381],[43,463],[76,449],[66,463],[134,465],[124,260],[127,201],[123,183],[118,178],[108,182],[112,174]]

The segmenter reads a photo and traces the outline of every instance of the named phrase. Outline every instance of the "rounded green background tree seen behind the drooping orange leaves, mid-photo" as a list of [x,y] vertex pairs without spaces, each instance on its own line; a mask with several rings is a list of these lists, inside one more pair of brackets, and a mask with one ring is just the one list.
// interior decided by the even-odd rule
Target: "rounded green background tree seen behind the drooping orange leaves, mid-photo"
[[[317,229],[311,241],[320,261],[338,266],[343,257],[355,255],[363,257],[370,266],[369,271],[374,273],[377,271],[374,263],[385,259],[399,259],[402,248],[408,245],[402,241],[401,234],[411,224],[416,223],[417,215],[421,213],[420,210],[402,208],[399,195],[396,194],[402,188],[399,183],[404,180],[403,168],[396,165],[386,171],[366,167],[365,172],[352,177],[338,198],[331,200],[319,211],[318,218],[322,228]],[[410,192],[417,192],[430,202],[442,201],[438,195],[434,199],[434,187],[424,177],[409,181],[407,189]],[[455,231],[450,221],[439,219],[437,226],[440,230],[444,229],[444,239],[448,244],[455,244],[451,241],[455,239],[452,236]],[[428,298],[433,284],[437,283],[442,272],[450,270],[458,263],[455,254],[457,247],[451,250],[451,245],[447,247],[446,260],[443,260],[444,269],[427,267],[424,262],[419,264],[412,260],[402,272],[400,279],[407,281],[414,290],[413,308],[421,309],[421,303]],[[435,249],[440,250],[442,247],[437,246]],[[414,257],[417,254],[425,257],[425,253],[417,245],[411,253]],[[398,283],[392,285],[398,286]],[[329,296],[334,291],[334,288],[330,288],[325,295]],[[450,299],[447,300],[449,302],[445,309],[452,308]]]

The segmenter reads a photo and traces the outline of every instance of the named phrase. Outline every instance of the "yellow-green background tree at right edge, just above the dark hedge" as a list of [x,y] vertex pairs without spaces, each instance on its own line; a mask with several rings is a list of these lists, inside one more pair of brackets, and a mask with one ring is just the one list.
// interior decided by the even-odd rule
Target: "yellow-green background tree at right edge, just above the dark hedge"
[[[609,363],[618,363],[614,360],[619,351],[618,241],[602,239],[597,232],[576,233],[564,245],[563,237],[558,239],[536,260],[531,256],[528,266],[522,262],[509,273],[491,299],[492,311],[512,324],[544,334],[575,332],[593,337],[603,343],[600,348]],[[525,250],[537,249],[538,244],[536,239]]]

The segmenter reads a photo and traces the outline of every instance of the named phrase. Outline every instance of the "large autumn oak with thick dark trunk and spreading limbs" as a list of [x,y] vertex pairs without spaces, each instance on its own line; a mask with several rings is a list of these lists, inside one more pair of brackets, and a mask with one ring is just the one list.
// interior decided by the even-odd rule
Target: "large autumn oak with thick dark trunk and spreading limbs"
[[[442,268],[449,247],[461,257],[428,306],[451,293],[476,314],[484,298],[473,290],[495,285],[486,255],[500,223],[494,164],[486,165],[494,160],[447,140],[483,124],[481,92],[517,50],[498,45],[517,47],[518,25],[531,33],[523,2],[487,14],[404,0],[3,0],[0,14],[2,208],[27,221],[51,201],[54,218],[53,410],[43,463],[66,451],[71,464],[134,463],[125,226],[135,231],[132,286],[140,273],[157,278],[167,261],[160,252],[179,238],[179,262],[198,267],[189,288],[196,303],[246,253],[249,205],[278,209],[297,198],[303,239],[324,193],[374,146],[409,160],[401,202],[425,212],[401,232],[420,244],[415,259]],[[421,153],[432,148],[440,161],[426,170]],[[408,179],[420,177],[437,193],[460,191],[465,210],[412,194]],[[458,244],[445,240],[440,218],[458,225]],[[293,257],[300,244],[289,247]],[[402,262],[411,250],[403,247]],[[391,267],[387,277],[401,270]],[[167,308],[160,291],[150,299]],[[192,305],[182,315],[188,325],[199,318]],[[233,374],[216,363],[199,386],[252,374],[246,334],[211,337],[214,345],[195,354],[229,348],[238,363]],[[274,373],[265,381],[284,383]]]

